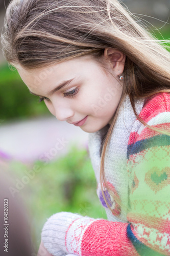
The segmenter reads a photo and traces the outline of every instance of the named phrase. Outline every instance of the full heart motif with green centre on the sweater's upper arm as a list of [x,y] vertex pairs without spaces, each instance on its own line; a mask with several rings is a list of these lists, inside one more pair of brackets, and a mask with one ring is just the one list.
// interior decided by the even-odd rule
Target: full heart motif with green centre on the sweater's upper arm
[[155,191],[155,194],[170,184],[170,167],[164,167],[162,169],[153,167],[145,175],[144,181]]

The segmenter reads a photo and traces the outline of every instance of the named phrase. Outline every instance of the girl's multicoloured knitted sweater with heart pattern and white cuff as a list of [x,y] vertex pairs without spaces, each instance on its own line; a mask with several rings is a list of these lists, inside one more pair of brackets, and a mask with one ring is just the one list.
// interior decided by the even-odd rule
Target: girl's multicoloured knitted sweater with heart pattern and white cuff
[[[170,94],[158,93],[147,101],[137,101],[135,107],[145,123],[169,131]],[[57,221],[52,217],[44,226],[46,248],[51,247],[54,255],[65,255],[63,251],[82,256],[170,255],[170,136],[139,122],[126,97],[105,155],[106,180],[121,202],[118,205],[105,189],[110,211],[100,184],[100,146],[105,132],[106,127],[89,134],[89,152],[97,194],[108,220],[60,213]],[[60,218],[65,218],[65,241],[61,254],[55,254],[54,222],[59,223]],[[51,240],[47,241],[49,226]]]

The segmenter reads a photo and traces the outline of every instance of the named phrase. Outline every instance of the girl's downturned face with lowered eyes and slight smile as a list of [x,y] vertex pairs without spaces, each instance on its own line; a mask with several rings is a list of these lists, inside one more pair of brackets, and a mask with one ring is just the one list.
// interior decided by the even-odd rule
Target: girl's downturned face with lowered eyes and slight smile
[[36,70],[19,67],[18,72],[30,92],[44,98],[58,120],[80,126],[88,133],[111,123],[122,96],[119,77],[116,80],[89,56]]

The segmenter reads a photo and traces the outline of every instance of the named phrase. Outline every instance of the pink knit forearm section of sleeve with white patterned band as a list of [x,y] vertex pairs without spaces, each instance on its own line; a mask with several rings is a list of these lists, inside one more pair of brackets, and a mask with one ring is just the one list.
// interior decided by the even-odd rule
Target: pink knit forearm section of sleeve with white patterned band
[[70,224],[65,237],[68,252],[81,256],[139,255],[127,237],[127,223],[84,218]]

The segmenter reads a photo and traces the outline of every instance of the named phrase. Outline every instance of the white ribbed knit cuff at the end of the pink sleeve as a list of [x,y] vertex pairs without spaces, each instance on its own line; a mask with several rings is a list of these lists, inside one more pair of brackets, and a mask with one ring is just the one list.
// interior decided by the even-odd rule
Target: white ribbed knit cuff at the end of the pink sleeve
[[54,256],[65,256],[68,253],[81,255],[81,236],[85,226],[92,220],[94,219],[71,212],[54,214],[42,229],[41,239],[44,247]]

